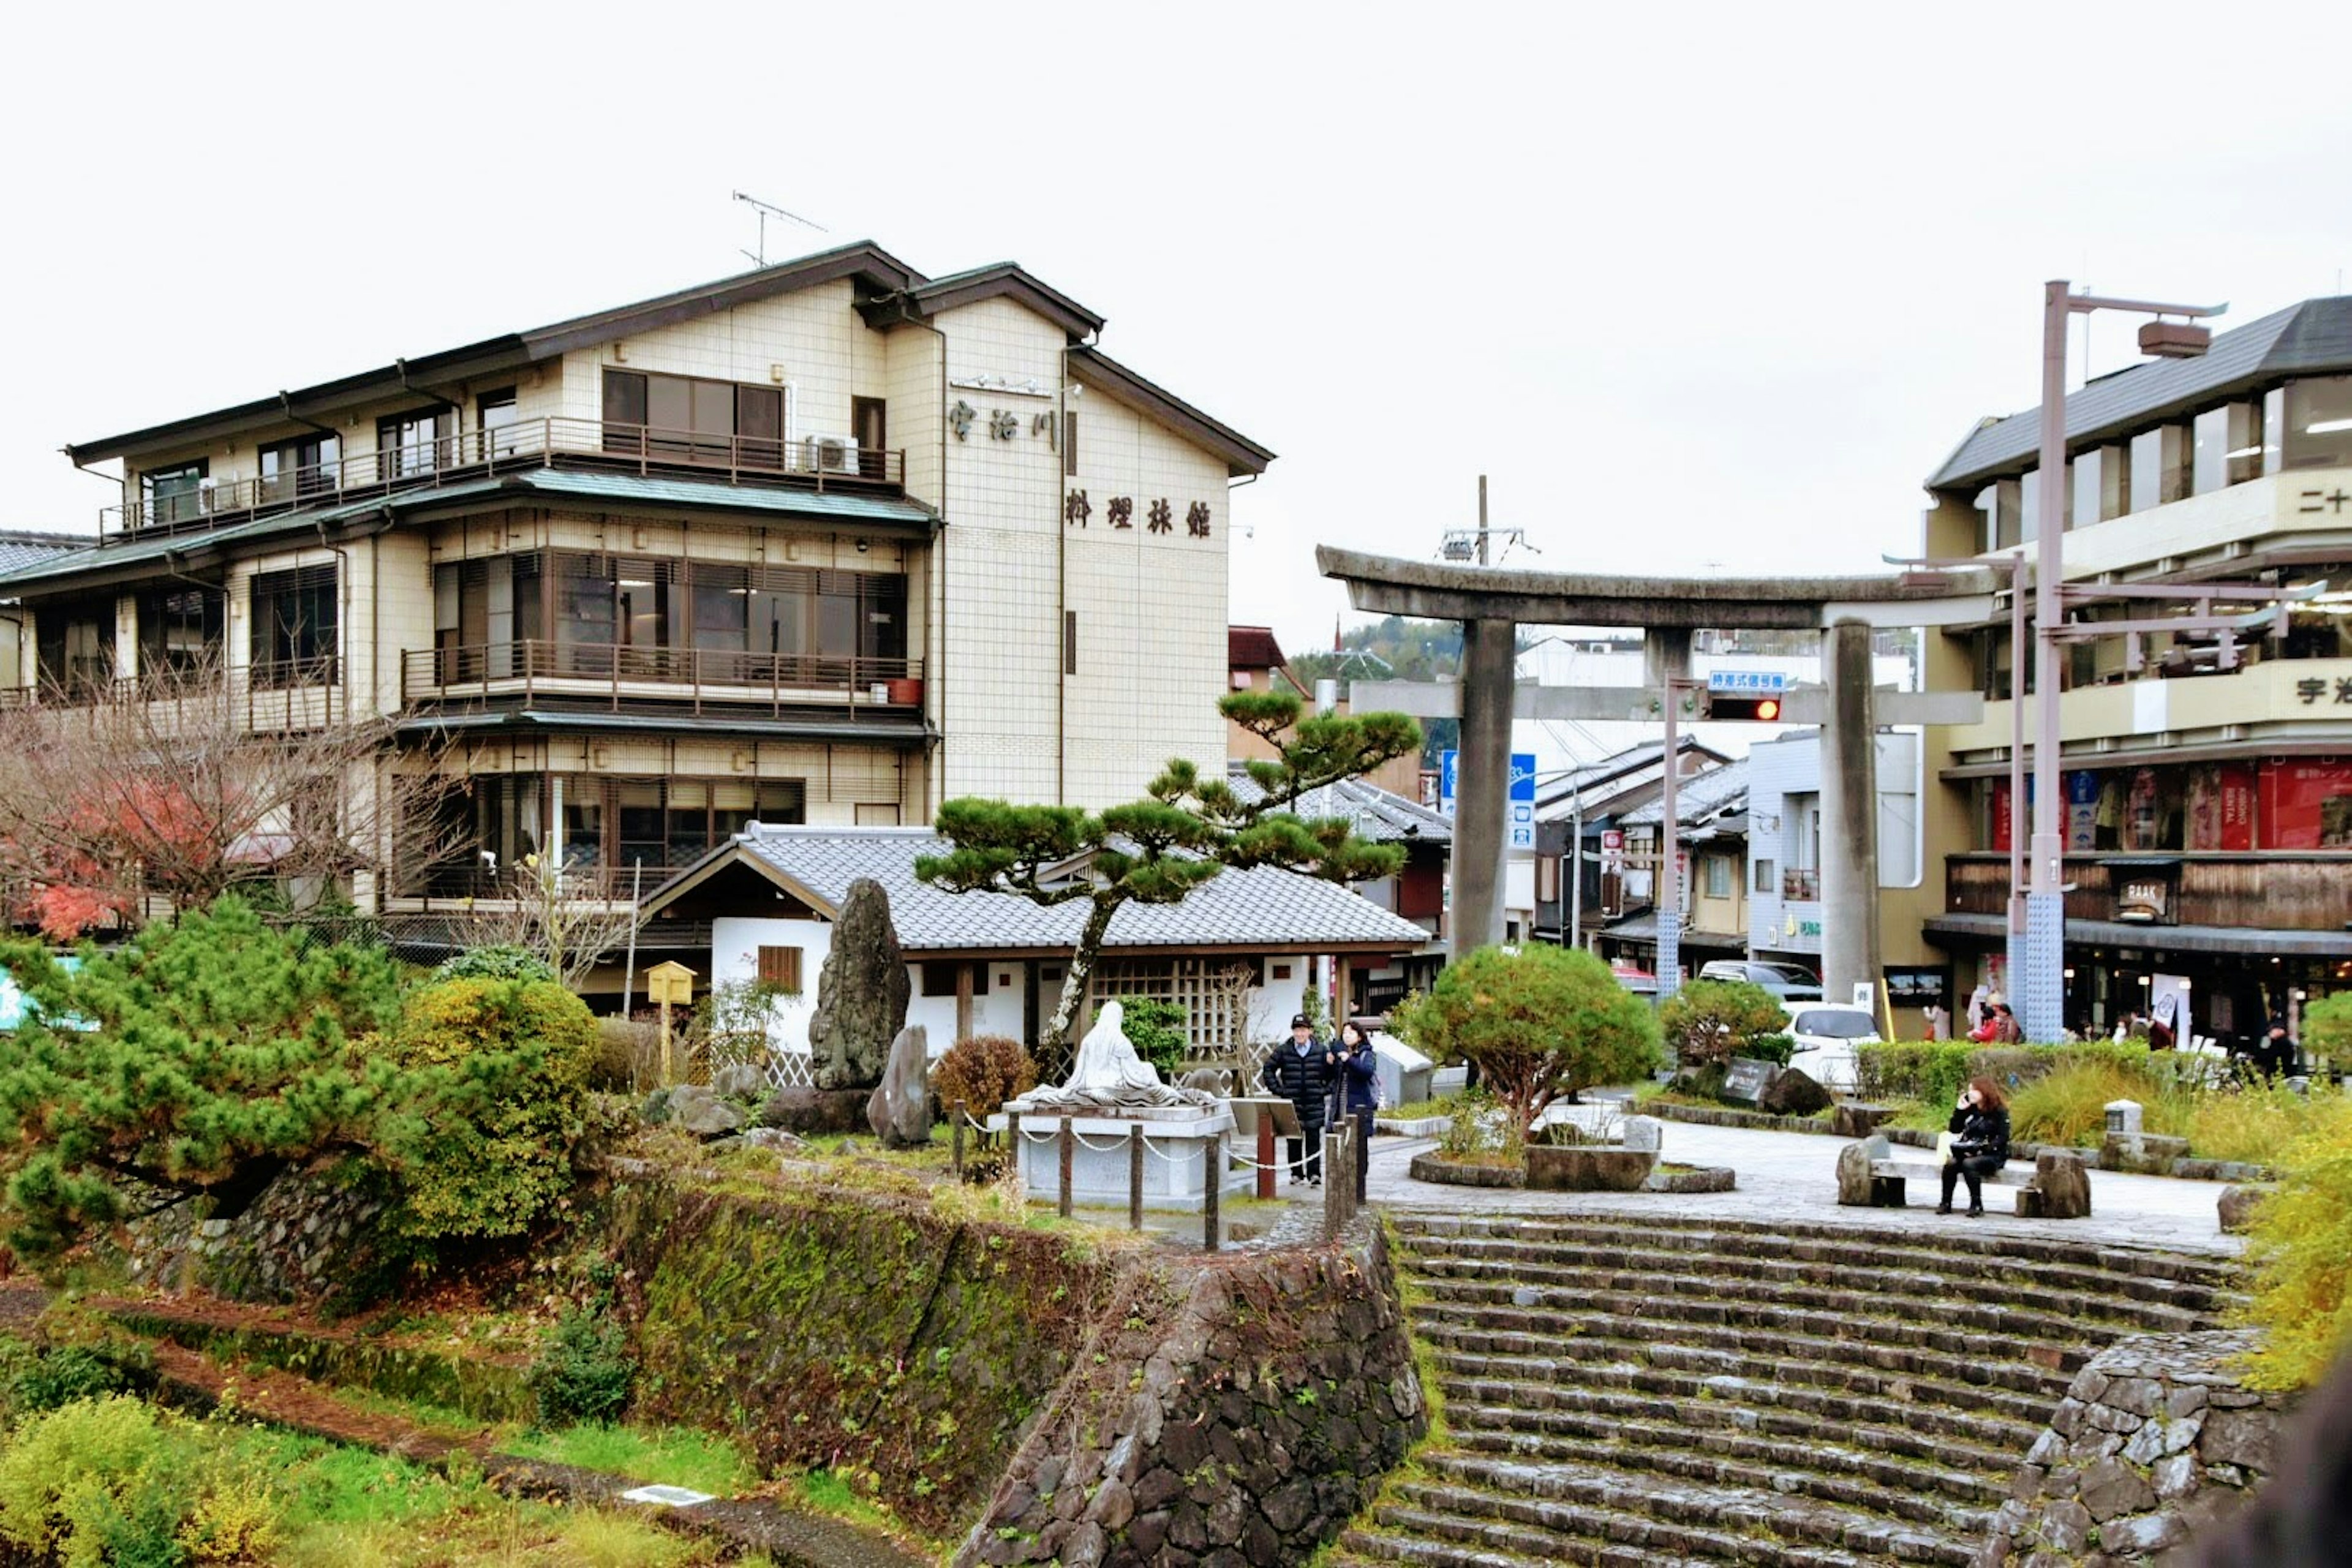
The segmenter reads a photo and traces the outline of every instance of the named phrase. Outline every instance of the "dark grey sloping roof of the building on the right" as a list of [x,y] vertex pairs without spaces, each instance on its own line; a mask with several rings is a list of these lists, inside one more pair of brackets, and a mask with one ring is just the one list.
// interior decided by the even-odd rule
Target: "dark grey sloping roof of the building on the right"
[[[2100,376],[2065,400],[2067,447],[2100,435],[2122,435],[2169,414],[2227,393],[2312,371],[2352,371],[2352,294],[2307,299],[2274,310],[2234,331],[2213,334],[2213,348],[2197,360],[2150,360],[2114,376]],[[1985,421],[1945,458],[1929,489],[1976,484],[2002,473],[2032,468],[2042,449],[2042,409]]]

